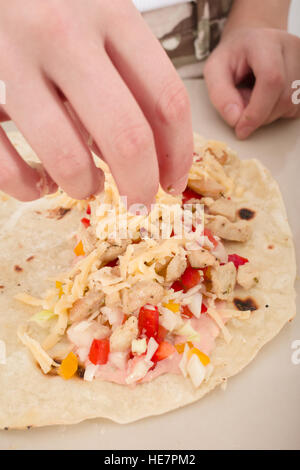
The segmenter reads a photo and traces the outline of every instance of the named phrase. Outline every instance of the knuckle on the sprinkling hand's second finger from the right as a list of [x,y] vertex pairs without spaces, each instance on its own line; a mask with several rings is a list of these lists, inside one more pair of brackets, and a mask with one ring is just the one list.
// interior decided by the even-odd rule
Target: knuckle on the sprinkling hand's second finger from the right
[[131,159],[153,145],[152,132],[144,124],[128,126],[118,133],[114,144],[120,156]]

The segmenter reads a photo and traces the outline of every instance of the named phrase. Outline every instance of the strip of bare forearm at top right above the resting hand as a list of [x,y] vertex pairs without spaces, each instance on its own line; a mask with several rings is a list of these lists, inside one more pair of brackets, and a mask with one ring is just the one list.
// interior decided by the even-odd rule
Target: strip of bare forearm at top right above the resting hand
[[290,0],[235,0],[223,36],[241,27],[287,28]]

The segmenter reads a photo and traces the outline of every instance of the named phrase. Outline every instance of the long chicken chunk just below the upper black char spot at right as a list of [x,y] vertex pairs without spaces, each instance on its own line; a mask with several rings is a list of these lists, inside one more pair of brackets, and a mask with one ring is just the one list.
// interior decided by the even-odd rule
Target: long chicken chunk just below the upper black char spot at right
[[205,226],[214,235],[225,240],[246,242],[252,235],[252,228],[249,222],[244,220],[230,222],[230,220],[222,215],[205,217]]

